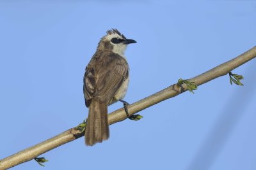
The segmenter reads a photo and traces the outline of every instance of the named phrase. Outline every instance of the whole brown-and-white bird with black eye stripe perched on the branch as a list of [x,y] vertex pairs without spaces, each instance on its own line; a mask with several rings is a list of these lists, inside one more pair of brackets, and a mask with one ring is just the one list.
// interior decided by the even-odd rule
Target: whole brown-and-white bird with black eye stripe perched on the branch
[[84,101],[89,108],[84,133],[86,146],[109,138],[108,106],[117,101],[124,106],[127,104],[122,100],[129,84],[129,65],[124,52],[127,45],[136,41],[125,38],[117,29],[106,33],[86,66],[83,78]]

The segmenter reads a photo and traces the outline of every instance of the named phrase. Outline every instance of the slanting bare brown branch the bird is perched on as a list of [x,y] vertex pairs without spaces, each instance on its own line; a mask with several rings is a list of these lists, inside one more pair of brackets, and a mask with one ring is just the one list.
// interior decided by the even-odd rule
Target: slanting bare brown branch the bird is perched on
[[[214,67],[213,69],[206,71],[203,74],[191,78],[188,81],[195,82],[196,85],[202,85],[207,81],[211,81],[215,78],[218,78],[229,73],[236,67],[241,66],[245,62],[248,62],[249,60],[252,60],[255,57],[256,46],[254,46],[247,52],[239,55],[238,57],[229,60],[228,62],[225,62],[220,66]],[[181,88],[178,87],[177,84],[173,84],[170,87],[167,87],[166,89],[161,90],[156,94],[153,94],[152,96],[148,96],[145,99],[142,99],[140,101],[137,101],[136,103],[129,105],[129,114],[134,115],[134,113],[137,113],[138,111],[145,110],[145,108],[148,108],[154,104],[157,104],[171,97],[177,96],[186,90],[188,90],[186,88],[186,85],[182,85]],[[109,125],[125,120],[125,118],[127,118],[127,116],[123,108],[113,111],[109,114]],[[25,150],[22,150],[18,153],[11,155],[10,157],[6,157],[0,160],[0,170],[8,169],[10,167],[22,164],[23,162],[27,162],[31,159],[34,159],[35,157],[38,157],[38,155],[41,155],[42,153],[52,150],[60,145],[64,145],[65,143],[68,143],[70,141],[74,141],[75,139],[80,138],[81,136],[84,136],[84,134],[81,133],[80,131],[77,131],[74,128],[68,129],[68,131],[63,132],[58,136],[54,136],[51,139],[47,139],[42,143],[38,143],[35,146],[31,146]]]

